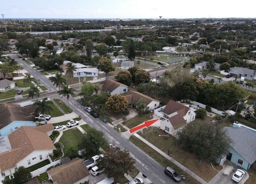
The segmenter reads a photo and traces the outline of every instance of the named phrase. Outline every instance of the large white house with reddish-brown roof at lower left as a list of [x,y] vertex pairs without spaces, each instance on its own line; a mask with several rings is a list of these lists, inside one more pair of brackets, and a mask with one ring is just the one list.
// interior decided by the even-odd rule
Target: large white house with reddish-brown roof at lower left
[[5,176],[12,175],[18,167],[28,168],[49,159],[56,150],[46,132],[54,130],[52,124],[38,127],[20,127],[6,137],[1,137],[0,168]]

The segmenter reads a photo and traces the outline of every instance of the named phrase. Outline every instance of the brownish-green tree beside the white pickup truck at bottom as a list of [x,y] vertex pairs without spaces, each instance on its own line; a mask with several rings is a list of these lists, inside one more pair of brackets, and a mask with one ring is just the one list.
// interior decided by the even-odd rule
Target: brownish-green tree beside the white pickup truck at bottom
[[132,170],[135,159],[127,149],[110,148],[104,152],[104,157],[97,162],[99,168],[104,168],[108,177],[120,178]]

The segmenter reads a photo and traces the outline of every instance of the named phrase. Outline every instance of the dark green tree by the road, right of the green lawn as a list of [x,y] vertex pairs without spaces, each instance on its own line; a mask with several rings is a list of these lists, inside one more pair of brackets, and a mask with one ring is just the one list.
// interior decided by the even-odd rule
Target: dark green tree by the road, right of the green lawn
[[104,138],[104,132],[92,128],[86,131],[86,134],[82,138],[82,141],[78,144],[78,148],[86,148],[87,154],[97,154],[99,148],[106,144],[107,141]]

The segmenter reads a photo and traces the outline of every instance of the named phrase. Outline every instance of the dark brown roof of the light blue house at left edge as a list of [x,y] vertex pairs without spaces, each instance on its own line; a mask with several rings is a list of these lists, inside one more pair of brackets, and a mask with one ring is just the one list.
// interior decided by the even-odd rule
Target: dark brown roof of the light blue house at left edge
[[36,121],[34,115],[35,106],[21,107],[18,104],[3,103],[0,105],[0,130],[13,121]]

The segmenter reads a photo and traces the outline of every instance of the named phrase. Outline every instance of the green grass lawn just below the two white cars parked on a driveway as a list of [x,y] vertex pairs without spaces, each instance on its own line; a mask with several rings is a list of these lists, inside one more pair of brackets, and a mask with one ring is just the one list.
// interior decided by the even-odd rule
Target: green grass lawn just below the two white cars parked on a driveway
[[63,152],[66,153],[66,150],[70,146],[78,147],[78,144],[82,141],[84,134],[77,128],[69,129],[63,132],[62,137],[59,142],[62,142],[64,145]]

